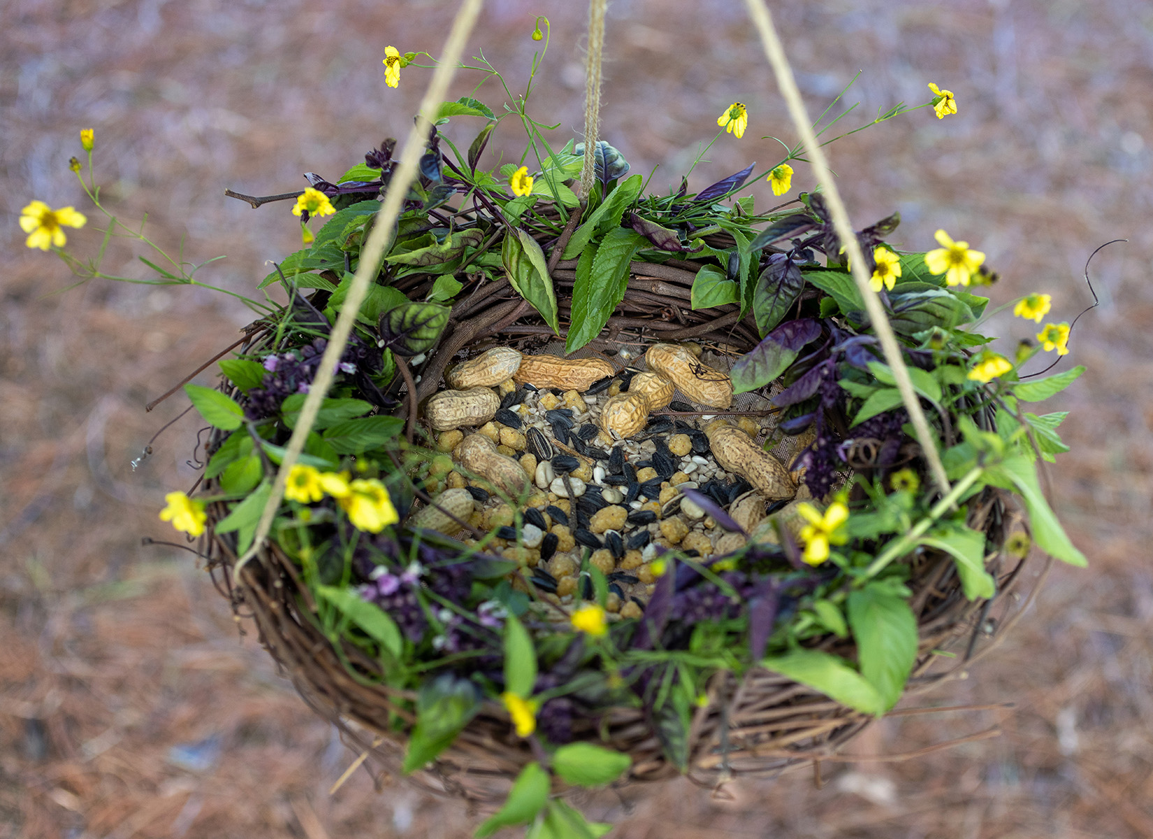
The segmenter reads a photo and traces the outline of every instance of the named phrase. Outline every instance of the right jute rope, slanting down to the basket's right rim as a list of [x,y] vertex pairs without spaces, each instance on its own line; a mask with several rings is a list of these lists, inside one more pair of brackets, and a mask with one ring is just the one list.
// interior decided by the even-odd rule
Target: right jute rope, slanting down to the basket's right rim
[[837,189],[837,182],[834,180],[832,171],[829,168],[824,150],[821,149],[820,143],[816,142],[816,136],[813,134],[812,121],[805,110],[805,103],[800,98],[800,91],[797,89],[797,81],[793,78],[789,59],[781,46],[781,38],[777,37],[777,30],[773,25],[773,16],[769,14],[764,0],[745,0],[745,5],[748,7],[748,14],[753,18],[753,23],[761,33],[764,55],[769,59],[769,63],[776,74],[781,95],[784,96],[785,102],[789,104],[789,115],[792,117],[793,125],[805,142],[805,150],[808,152],[816,179],[824,186],[824,196],[829,201],[829,210],[832,214],[832,226],[837,231],[841,244],[849,252],[849,268],[852,271],[853,280],[857,283],[857,289],[865,300],[865,310],[868,312],[869,320],[873,322],[873,329],[876,331],[877,338],[881,339],[881,349],[884,351],[886,361],[892,368],[892,377],[897,383],[897,389],[900,391],[900,398],[909,410],[909,418],[912,420],[917,440],[921,444],[925,458],[929,462],[937,488],[942,495],[948,495],[950,489],[949,478],[945,475],[944,465],[941,463],[941,456],[937,452],[933,432],[929,429],[929,424],[925,419],[925,412],[921,411],[921,404],[917,399],[913,382],[909,377],[909,368],[905,367],[905,360],[900,354],[900,346],[892,334],[892,327],[889,325],[889,319],[881,306],[881,299],[869,287],[869,276],[865,272],[865,255],[861,253],[860,242],[857,241],[857,234],[853,233],[853,226],[849,220],[849,211],[841,200],[841,192]]

